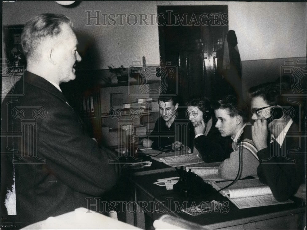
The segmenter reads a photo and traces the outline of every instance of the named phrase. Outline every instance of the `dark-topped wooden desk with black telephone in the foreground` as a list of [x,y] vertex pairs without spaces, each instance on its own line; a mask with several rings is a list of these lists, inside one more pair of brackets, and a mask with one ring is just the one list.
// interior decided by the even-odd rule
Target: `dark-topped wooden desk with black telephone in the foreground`
[[[177,193],[173,193],[173,190],[166,190],[165,187],[153,184],[157,179],[175,176],[178,176],[177,172],[170,171],[130,178],[135,189],[135,201],[141,205],[138,207],[138,212],[135,213],[135,222],[138,227],[145,227],[140,224],[144,219],[142,210],[147,212],[154,220],[167,213],[209,229],[303,229],[305,226],[305,204],[299,199],[289,204],[238,209],[220,193],[188,200],[180,197]],[[228,201],[228,212],[211,212],[199,216],[191,216],[178,211],[181,209],[178,209],[175,204],[175,202],[178,202],[179,205],[182,205],[184,202],[187,202],[186,207],[190,207],[189,205],[192,204],[192,201],[195,201],[196,205],[198,205],[201,201],[212,201],[212,199],[219,202]],[[148,206],[146,207],[144,204]],[[141,209],[141,207],[143,208]]]

